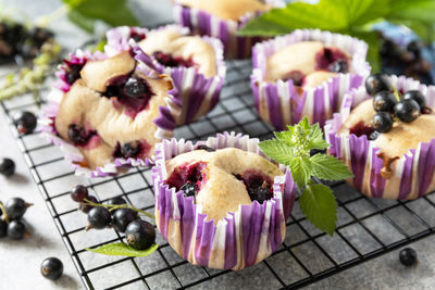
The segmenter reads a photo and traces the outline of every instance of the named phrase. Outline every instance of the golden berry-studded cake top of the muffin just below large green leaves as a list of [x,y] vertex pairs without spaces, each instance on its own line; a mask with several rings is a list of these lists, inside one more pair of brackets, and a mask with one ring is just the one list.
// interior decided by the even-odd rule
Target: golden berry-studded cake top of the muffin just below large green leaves
[[350,71],[351,58],[320,41],[289,45],[268,59],[266,80],[291,79],[298,87],[316,87],[338,73]]

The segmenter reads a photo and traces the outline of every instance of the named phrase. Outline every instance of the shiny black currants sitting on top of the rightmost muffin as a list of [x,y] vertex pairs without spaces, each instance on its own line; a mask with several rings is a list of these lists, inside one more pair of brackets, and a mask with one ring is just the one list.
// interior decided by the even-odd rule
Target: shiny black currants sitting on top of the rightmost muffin
[[[422,113],[428,113],[426,99],[419,90],[409,90],[400,98],[384,74],[373,74],[365,79],[365,90],[373,97],[373,108],[376,111],[372,119],[375,135],[387,133],[393,128],[395,119],[410,123]],[[376,139],[376,138],[371,138]]]

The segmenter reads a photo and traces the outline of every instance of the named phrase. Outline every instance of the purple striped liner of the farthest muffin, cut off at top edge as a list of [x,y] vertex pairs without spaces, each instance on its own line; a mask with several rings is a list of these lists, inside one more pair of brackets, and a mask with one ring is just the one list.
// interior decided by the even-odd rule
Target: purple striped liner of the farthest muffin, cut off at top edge
[[[263,1],[272,7],[284,7],[285,1]],[[188,27],[192,33],[219,38],[224,45],[225,59],[247,59],[251,56],[254,43],[269,39],[266,37],[237,36],[237,31],[259,13],[247,13],[239,21],[222,20],[206,11],[188,8],[176,3],[173,7],[173,16],[176,23]]]

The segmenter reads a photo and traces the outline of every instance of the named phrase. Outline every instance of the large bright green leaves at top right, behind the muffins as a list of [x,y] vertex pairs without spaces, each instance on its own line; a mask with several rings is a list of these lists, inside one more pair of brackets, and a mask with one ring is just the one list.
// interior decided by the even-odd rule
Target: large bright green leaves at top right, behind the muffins
[[276,36],[298,28],[320,28],[347,34],[369,43],[368,60],[377,71],[378,38],[372,26],[382,21],[407,25],[426,42],[433,40],[433,0],[320,0],[295,1],[251,20],[240,31],[246,36]]

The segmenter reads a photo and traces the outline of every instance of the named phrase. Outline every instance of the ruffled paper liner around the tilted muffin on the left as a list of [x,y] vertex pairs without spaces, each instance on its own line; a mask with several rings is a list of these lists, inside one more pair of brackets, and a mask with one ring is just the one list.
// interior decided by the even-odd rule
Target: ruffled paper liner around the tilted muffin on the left
[[[158,76],[156,73],[150,71],[147,72],[147,75],[150,77],[169,78],[167,75]],[[181,113],[181,103],[178,99],[174,97],[176,93],[177,90],[175,87],[167,92],[167,96],[164,99],[166,105],[159,108],[160,115],[154,119],[154,124],[158,126],[154,137],[160,140],[173,137],[173,131],[176,127],[176,119]],[[59,86],[55,84],[52,86],[52,89],[48,96],[48,104],[42,108],[42,114],[39,121],[41,124],[40,131],[51,143],[60,147],[64,153],[65,160],[71,162],[71,166],[75,171],[76,175],[84,175],[90,178],[115,176],[122,172],[125,172],[129,167],[149,167],[153,164],[154,156],[149,159],[147,157],[145,160],[123,157],[113,159],[111,162],[104,164],[104,166],[97,167],[94,171],[88,167],[80,166],[78,163],[84,160],[80,151],[67,140],[62,139],[55,131],[54,126],[52,126],[53,118],[55,118],[59,113],[59,106],[64,94],[65,91],[59,88]]]

